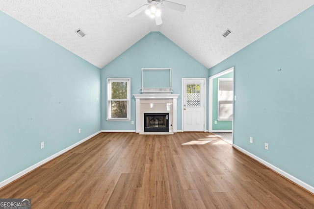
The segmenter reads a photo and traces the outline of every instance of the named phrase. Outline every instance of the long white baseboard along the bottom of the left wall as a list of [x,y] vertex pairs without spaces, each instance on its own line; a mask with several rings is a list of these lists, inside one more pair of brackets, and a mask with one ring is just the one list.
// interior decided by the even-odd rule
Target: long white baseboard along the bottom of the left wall
[[82,140],[78,141],[77,143],[75,143],[75,144],[73,144],[73,145],[71,145],[71,146],[61,150],[60,152],[57,152],[54,155],[46,158],[45,160],[42,160],[41,162],[38,162],[38,163],[36,163],[36,164],[26,168],[25,170],[15,174],[14,176],[11,176],[10,178],[7,178],[7,179],[3,180],[2,182],[0,182],[0,188],[10,184],[11,182],[17,180],[18,178],[24,176],[26,173],[28,173],[28,172],[34,170],[35,168],[38,168],[39,166],[41,166],[41,165],[51,161],[52,159],[62,155],[63,153],[65,153],[65,152],[69,151],[70,149],[78,146],[79,144],[83,143],[84,141],[87,141],[88,139],[91,139],[92,137],[96,136],[99,133],[101,133],[101,131],[99,131],[99,132],[97,132],[97,133],[95,133],[95,134],[93,134],[93,135],[91,135],[91,136],[89,136],[89,137],[87,137],[85,139],[82,139]]

